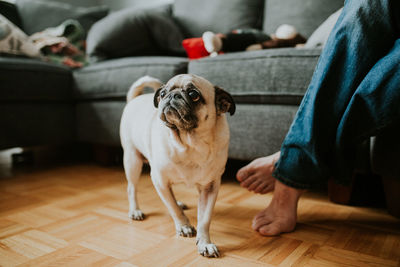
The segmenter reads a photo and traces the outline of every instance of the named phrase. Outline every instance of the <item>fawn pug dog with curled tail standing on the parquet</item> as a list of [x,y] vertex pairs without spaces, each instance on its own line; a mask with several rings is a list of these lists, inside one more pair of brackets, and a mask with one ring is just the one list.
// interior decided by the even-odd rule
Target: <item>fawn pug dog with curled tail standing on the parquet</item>
[[[146,87],[154,94],[141,94]],[[232,96],[206,79],[182,74],[165,85],[151,77],[136,81],[127,95],[120,126],[128,180],[129,216],[143,220],[137,184],[145,160],[151,180],[184,237],[196,236],[201,255],[219,257],[209,228],[221,176],[228,158],[229,127],[225,113],[235,113]],[[185,183],[199,192],[196,229],[177,202],[171,185]]]

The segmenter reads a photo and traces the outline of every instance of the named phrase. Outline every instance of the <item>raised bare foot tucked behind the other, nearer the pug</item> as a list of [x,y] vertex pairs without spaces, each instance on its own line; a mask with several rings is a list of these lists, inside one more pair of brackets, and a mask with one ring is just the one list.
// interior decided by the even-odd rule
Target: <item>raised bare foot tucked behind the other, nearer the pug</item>
[[268,157],[253,160],[237,172],[236,179],[241,186],[255,193],[266,194],[273,191],[275,178],[272,173],[280,154],[278,151]]

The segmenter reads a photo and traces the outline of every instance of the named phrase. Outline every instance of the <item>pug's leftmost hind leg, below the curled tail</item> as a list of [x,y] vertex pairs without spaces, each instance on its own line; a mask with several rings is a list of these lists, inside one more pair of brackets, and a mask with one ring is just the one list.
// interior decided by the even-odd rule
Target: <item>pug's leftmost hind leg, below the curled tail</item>
[[143,158],[136,150],[124,152],[124,169],[128,180],[129,217],[133,220],[143,220],[144,214],[137,201],[137,185],[143,167]]

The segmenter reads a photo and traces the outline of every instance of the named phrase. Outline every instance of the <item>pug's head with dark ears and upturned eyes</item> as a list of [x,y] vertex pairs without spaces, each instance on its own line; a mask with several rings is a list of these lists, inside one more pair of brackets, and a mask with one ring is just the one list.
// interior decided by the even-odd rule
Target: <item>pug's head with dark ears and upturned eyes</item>
[[165,125],[179,131],[193,131],[212,125],[225,112],[235,113],[232,96],[196,75],[175,76],[158,89],[154,106]]

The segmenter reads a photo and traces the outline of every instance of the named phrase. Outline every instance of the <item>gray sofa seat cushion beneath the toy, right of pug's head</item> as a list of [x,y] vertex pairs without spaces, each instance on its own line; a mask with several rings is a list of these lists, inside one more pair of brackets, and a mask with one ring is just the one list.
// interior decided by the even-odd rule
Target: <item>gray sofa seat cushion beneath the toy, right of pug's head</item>
[[193,60],[189,73],[229,91],[238,103],[299,104],[320,49],[280,48]]

